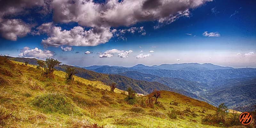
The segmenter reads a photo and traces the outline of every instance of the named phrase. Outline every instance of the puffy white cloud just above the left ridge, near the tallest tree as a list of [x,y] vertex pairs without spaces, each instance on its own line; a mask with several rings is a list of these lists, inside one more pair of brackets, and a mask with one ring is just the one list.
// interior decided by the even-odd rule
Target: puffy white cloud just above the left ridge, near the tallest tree
[[29,47],[24,47],[22,50],[20,50],[19,57],[32,57],[32,58],[38,58],[38,59],[44,59],[48,57],[52,57],[54,55],[54,52],[49,50],[41,50],[35,47],[34,49],[31,49]]

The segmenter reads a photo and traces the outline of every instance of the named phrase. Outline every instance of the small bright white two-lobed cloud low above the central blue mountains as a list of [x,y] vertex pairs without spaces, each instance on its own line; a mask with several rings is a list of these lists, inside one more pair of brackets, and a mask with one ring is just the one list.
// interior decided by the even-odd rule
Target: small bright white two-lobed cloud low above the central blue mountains
[[118,50],[118,49],[111,49],[111,50],[108,50],[104,53],[99,53],[99,57],[100,58],[110,58],[110,57],[113,57],[114,56],[114,53],[119,53],[118,54],[118,57],[120,58],[126,58],[128,57],[128,55],[130,53],[132,53],[133,51],[132,50],[129,50],[129,51],[124,51],[124,50]]

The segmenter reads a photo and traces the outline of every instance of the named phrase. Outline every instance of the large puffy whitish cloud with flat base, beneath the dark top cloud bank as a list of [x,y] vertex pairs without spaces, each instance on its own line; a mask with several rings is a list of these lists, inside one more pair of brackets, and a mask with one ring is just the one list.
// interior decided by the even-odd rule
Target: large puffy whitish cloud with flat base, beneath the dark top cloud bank
[[61,30],[61,27],[53,26],[52,23],[44,23],[37,27],[39,33],[46,33],[49,37],[42,40],[44,46],[96,46],[104,44],[113,36],[110,28],[90,28],[84,30],[77,26],[70,30]]

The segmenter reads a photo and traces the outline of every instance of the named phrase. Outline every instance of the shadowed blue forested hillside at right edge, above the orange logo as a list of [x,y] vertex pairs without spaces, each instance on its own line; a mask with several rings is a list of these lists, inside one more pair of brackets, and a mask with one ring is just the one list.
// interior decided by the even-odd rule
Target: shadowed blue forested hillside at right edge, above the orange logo
[[256,105],[256,77],[244,77],[225,79],[212,82],[213,86],[202,97],[218,105],[225,102],[226,105],[238,111],[252,111]]

